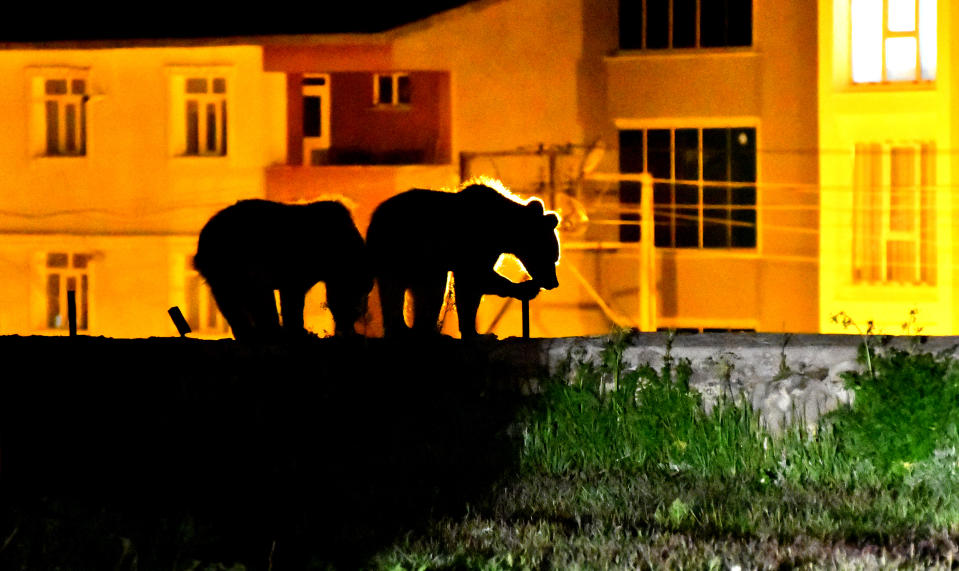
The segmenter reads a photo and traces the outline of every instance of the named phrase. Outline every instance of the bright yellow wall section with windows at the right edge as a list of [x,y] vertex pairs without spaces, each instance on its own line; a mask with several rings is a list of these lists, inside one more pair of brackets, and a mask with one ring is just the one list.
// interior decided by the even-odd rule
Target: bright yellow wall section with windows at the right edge
[[844,331],[845,312],[895,334],[916,309],[924,332],[952,334],[956,14],[892,2],[884,21],[882,5],[819,2],[820,327]]

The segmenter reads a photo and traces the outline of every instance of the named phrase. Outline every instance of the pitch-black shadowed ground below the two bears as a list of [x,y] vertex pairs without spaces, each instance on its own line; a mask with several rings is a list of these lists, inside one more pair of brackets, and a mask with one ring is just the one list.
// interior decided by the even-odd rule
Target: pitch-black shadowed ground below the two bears
[[2,568],[351,568],[514,468],[448,338],[0,341]]

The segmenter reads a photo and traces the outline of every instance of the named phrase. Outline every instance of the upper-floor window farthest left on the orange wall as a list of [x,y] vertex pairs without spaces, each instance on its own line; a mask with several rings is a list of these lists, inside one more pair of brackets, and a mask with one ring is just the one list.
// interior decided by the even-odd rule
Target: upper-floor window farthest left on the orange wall
[[40,69],[32,75],[32,147],[38,156],[87,152],[88,81],[85,69]]

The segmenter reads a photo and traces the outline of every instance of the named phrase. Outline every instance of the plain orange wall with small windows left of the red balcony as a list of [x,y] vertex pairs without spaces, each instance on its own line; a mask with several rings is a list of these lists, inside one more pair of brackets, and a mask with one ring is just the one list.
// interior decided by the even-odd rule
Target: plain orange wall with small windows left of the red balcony
[[63,334],[74,285],[84,333],[176,334],[200,227],[262,197],[285,156],[283,78],[261,53],[0,51],[0,333]]

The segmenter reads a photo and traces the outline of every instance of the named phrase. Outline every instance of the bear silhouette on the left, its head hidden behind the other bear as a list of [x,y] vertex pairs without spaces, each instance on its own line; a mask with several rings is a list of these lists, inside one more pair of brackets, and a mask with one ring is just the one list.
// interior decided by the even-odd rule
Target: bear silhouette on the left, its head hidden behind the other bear
[[[241,200],[206,223],[193,264],[237,340],[303,333],[306,294],[321,281],[335,332],[354,333],[373,288],[363,237],[336,201]],[[274,290],[280,292],[282,329]]]

